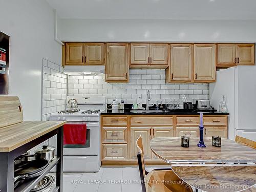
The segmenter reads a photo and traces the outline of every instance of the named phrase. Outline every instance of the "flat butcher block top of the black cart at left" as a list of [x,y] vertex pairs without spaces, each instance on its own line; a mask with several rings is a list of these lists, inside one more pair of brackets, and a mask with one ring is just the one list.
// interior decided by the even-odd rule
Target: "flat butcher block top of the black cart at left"
[[65,124],[66,121],[24,121],[0,128],[0,152],[11,152]]

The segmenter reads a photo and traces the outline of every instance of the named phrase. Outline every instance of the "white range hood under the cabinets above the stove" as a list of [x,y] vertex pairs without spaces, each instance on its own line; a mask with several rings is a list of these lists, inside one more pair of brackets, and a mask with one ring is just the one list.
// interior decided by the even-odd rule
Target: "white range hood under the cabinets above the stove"
[[105,72],[105,66],[65,66],[67,75],[97,75]]

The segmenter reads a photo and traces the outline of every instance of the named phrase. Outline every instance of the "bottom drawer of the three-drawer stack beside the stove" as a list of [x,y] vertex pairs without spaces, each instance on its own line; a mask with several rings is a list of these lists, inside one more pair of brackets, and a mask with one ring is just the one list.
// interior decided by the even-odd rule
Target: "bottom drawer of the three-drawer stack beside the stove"
[[127,144],[103,144],[102,160],[127,159]]

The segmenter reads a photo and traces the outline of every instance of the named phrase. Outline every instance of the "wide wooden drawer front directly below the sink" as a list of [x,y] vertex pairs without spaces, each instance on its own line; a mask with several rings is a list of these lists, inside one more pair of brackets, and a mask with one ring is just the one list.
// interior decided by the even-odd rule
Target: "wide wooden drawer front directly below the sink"
[[173,126],[173,117],[131,117],[131,126]]

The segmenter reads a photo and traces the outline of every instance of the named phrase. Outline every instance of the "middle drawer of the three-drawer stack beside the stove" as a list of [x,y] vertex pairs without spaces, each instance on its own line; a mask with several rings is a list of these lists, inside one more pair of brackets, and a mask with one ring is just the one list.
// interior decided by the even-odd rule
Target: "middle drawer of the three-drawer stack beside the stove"
[[126,127],[102,127],[103,143],[127,143]]

